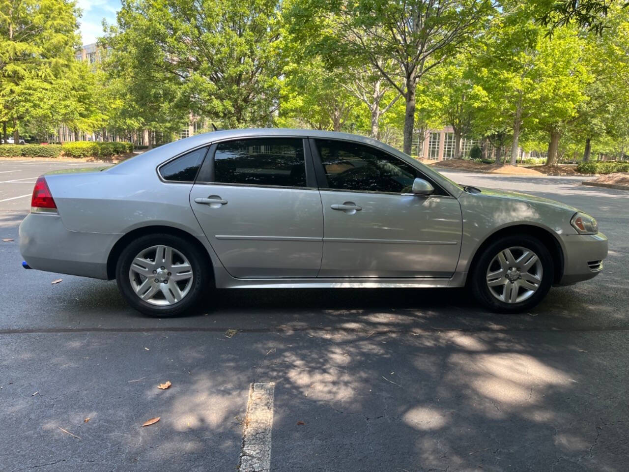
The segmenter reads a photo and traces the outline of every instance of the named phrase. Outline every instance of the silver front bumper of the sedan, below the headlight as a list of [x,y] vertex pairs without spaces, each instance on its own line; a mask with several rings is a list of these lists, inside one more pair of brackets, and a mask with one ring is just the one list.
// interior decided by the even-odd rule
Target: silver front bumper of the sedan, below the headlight
[[558,285],[571,285],[596,277],[603,270],[608,242],[603,233],[562,235],[564,274]]

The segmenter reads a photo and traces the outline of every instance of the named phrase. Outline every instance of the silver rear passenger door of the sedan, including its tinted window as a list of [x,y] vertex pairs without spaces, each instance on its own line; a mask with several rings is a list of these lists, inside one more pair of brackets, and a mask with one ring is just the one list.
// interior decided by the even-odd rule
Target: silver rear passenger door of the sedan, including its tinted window
[[304,142],[248,138],[210,148],[190,205],[232,276],[316,277],[323,212]]

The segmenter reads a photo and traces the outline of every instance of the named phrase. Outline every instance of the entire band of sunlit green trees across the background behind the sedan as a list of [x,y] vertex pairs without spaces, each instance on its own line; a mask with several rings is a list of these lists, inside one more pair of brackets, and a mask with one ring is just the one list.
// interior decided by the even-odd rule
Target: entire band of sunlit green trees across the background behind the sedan
[[454,157],[463,138],[511,164],[628,154],[623,1],[123,0],[96,62],[75,59],[74,2],[0,4],[4,138],[153,142],[198,120],[362,133],[416,155],[451,126]]

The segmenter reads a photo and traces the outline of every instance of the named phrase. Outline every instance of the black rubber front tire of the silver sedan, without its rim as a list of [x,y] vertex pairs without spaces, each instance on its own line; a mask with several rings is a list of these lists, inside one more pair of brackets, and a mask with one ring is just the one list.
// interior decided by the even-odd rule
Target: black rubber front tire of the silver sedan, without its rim
[[[489,269],[489,264],[491,264],[494,257],[496,257],[499,252],[510,247],[525,247],[526,249],[533,250],[539,257],[543,269],[542,281],[539,283],[537,291],[528,299],[516,303],[506,303],[498,300],[498,298],[491,293],[489,286],[487,286],[487,270]],[[536,237],[529,235],[504,236],[494,240],[482,250],[482,253],[470,271],[467,285],[472,291],[474,298],[492,312],[525,312],[540,303],[547,295],[553,283],[555,275],[554,267],[550,251],[543,242]]]

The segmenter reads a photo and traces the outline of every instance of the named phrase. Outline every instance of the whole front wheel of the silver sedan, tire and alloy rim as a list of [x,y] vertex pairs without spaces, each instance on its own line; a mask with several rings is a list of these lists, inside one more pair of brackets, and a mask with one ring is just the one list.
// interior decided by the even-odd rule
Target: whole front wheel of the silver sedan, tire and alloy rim
[[501,237],[482,252],[470,274],[476,299],[499,313],[533,308],[550,290],[554,264],[547,247],[537,238]]

